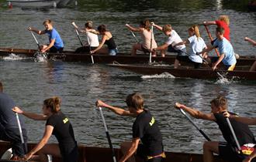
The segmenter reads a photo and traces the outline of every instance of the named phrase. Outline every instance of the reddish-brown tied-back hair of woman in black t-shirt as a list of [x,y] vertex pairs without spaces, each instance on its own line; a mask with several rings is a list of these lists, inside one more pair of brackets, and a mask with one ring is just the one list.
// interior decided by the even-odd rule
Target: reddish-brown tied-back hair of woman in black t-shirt
[[53,96],[43,101],[43,105],[50,108],[52,113],[57,113],[61,110],[61,99],[57,96]]

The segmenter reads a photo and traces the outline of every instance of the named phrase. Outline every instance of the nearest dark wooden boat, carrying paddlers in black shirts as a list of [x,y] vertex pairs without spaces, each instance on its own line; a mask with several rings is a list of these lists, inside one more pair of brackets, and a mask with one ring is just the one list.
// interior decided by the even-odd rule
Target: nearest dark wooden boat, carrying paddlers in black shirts
[[[31,150],[36,143],[29,143],[28,147]],[[10,148],[10,143],[0,142],[0,157]],[[119,160],[122,157],[122,153],[119,149],[115,149],[116,159]],[[0,160],[1,161],[1,160]],[[59,162],[61,158],[53,157],[53,162]],[[202,162],[202,154],[186,154],[186,153],[173,153],[166,152],[165,162]],[[215,162],[224,162],[219,157],[215,157]],[[85,145],[79,145],[79,162],[112,162],[112,154],[109,148],[102,147],[85,147]],[[137,159],[137,162],[142,160]]]

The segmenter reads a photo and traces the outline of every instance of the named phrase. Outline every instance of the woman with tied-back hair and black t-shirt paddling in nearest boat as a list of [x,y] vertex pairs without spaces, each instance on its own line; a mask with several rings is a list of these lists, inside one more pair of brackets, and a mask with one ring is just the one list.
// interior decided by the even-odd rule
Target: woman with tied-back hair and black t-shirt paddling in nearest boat
[[[28,113],[15,107],[12,109],[16,113],[33,120],[47,120],[43,138],[40,142],[25,155],[26,160],[47,161],[47,154],[54,157],[62,157],[64,162],[78,161],[78,145],[74,140],[74,131],[67,116],[61,113],[61,99],[57,96],[43,101],[43,115]],[[57,138],[59,146],[55,144],[47,144],[51,134]],[[39,157],[33,154],[38,154]]]

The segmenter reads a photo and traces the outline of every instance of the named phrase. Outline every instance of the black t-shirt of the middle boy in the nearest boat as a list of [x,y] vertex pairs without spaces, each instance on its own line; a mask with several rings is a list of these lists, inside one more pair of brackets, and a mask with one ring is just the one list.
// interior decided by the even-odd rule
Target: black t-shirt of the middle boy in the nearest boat
[[149,156],[163,152],[161,132],[150,112],[144,110],[133,123],[133,138],[140,138]]

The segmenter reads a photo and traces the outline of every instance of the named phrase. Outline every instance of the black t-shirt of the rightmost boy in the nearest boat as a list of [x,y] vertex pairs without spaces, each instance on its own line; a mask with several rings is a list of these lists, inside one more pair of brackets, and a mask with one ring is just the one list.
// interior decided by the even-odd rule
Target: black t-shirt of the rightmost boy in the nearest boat
[[[236,115],[235,113],[230,114]],[[227,143],[230,143],[232,146],[237,147],[237,144],[231,133],[230,127],[228,126],[226,118],[223,116],[222,113],[214,113],[214,116],[216,118],[216,123],[219,125],[220,131],[223,134],[224,139],[227,141]],[[251,133],[251,130],[249,129],[247,124],[240,123],[232,118],[230,118],[230,123],[234,129],[240,146],[246,143],[255,143],[254,135],[253,133]]]

